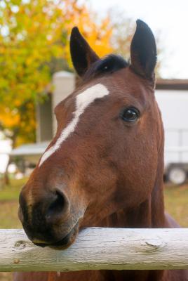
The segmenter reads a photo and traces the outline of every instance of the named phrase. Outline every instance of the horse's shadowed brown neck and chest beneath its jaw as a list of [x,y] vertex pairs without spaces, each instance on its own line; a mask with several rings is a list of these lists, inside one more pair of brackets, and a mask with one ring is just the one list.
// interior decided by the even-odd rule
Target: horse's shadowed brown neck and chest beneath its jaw
[[[163,175],[158,174],[152,194],[134,209],[121,209],[105,218],[101,227],[160,228],[166,226],[163,204]],[[112,280],[159,281],[164,270],[112,270]]]

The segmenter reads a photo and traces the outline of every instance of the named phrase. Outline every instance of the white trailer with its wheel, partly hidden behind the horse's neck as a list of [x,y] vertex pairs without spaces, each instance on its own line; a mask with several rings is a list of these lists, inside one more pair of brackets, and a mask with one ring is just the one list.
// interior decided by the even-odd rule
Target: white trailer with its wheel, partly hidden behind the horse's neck
[[156,89],[156,100],[165,130],[165,174],[172,183],[182,184],[188,174],[188,87]]

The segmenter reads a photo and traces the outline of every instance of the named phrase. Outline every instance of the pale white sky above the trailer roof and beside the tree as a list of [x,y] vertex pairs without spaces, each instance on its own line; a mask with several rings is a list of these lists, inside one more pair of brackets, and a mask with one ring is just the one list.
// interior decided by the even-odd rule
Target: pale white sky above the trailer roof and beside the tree
[[147,22],[161,34],[163,78],[188,79],[188,0],[89,0],[88,6],[103,17],[110,8]]

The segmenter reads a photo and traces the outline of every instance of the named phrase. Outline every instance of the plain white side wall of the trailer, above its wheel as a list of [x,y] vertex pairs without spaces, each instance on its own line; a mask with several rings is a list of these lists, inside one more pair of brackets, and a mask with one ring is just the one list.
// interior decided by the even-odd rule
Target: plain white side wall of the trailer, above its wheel
[[165,129],[165,162],[188,163],[188,91],[156,90]]

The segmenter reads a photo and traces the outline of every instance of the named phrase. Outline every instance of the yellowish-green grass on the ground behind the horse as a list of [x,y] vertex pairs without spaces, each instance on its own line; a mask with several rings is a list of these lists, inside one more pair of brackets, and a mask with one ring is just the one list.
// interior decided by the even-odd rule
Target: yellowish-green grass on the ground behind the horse
[[[11,180],[11,185],[0,190],[0,228],[22,228],[18,220],[18,196],[26,178]],[[166,185],[164,189],[166,211],[180,223],[188,227],[188,184]],[[11,281],[12,273],[0,273],[0,281]]]

